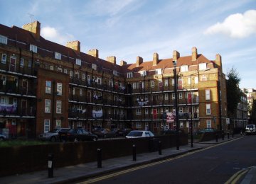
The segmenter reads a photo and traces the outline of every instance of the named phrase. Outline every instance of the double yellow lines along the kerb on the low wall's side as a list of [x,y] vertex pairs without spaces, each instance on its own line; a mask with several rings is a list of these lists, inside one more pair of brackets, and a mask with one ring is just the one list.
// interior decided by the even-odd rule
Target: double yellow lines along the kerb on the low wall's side
[[[243,137],[240,137],[240,138],[238,138],[238,139],[241,139],[241,138],[243,138]],[[232,140],[230,140],[230,141],[228,141],[228,142],[233,142],[233,141],[238,140],[238,139],[232,139]],[[184,156],[188,156],[188,155],[191,155],[191,154],[196,154],[196,153],[198,153],[198,152],[200,152],[200,151],[204,151],[204,150],[206,150],[206,149],[210,149],[210,148],[213,148],[213,147],[215,147],[215,146],[220,146],[220,145],[222,145],[222,144],[227,144],[228,142],[222,142],[222,143],[219,143],[219,144],[216,144],[216,145],[213,145],[213,146],[208,146],[208,147],[203,148],[203,149],[199,149],[199,150],[196,150],[196,151],[188,152],[188,153],[186,153],[186,154],[181,154],[181,155],[179,155],[179,156],[174,156],[174,157],[172,157],[172,158],[170,158],[170,159],[164,159],[164,160],[162,160],[162,161],[156,161],[156,162],[154,162],[154,163],[147,163],[147,164],[145,164],[145,165],[143,165],[143,166],[136,166],[136,167],[134,167],[134,168],[129,168],[129,169],[126,169],[126,170],[124,170],[124,171],[118,171],[118,172],[116,172],[116,173],[110,173],[110,174],[107,174],[107,175],[105,175],[105,176],[100,176],[100,177],[98,177],[98,178],[88,179],[88,180],[83,181],[83,182],[78,183],[78,184],[95,183],[95,182],[97,182],[97,181],[105,180],[105,179],[108,179],[108,178],[112,178],[112,177],[114,177],[114,176],[119,176],[119,175],[122,175],[122,174],[124,174],[124,173],[129,173],[129,172],[132,172],[132,171],[137,171],[137,170],[139,170],[139,169],[141,169],[141,168],[146,168],[146,167],[150,167],[150,166],[155,166],[155,165],[158,165],[158,164],[160,164],[160,163],[165,163],[165,162],[167,162],[167,161],[172,161],[172,160],[174,160],[174,159],[180,159],[180,158],[182,158],[182,157],[184,157]],[[232,177],[231,177],[231,178],[232,178]],[[228,183],[225,183],[225,184],[228,184]]]

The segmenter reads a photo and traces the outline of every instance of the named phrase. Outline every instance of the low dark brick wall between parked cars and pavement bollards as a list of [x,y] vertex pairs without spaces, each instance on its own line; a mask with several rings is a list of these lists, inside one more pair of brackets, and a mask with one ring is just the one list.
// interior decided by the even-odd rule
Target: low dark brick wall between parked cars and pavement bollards
[[[179,135],[180,145],[188,144],[188,135]],[[102,160],[132,155],[132,145],[137,154],[176,146],[175,135],[154,139],[109,139],[97,142],[68,142],[36,146],[13,146],[0,148],[0,177],[47,169],[48,154],[54,154],[54,167],[72,166],[97,161],[97,149],[102,149]]]

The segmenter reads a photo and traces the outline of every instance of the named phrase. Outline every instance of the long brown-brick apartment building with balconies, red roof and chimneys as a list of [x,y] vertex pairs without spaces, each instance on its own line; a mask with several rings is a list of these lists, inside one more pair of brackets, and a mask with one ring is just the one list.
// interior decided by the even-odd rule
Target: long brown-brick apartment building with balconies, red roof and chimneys
[[[136,63],[100,59],[99,51],[80,51],[45,40],[41,23],[23,28],[0,25],[0,130],[36,137],[55,127],[123,128],[159,132],[175,128],[176,61],[179,125],[186,132],[206,127],[225,130],[227,101],[220,54],[198,54]],[[170,54],[171,55],[171,54]]]

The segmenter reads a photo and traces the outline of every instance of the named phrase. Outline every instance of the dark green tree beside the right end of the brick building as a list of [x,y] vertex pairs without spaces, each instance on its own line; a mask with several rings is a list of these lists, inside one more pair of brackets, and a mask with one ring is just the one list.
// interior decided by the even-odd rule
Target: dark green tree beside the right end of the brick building
[[242,92],[239,88],[240,77],[238,71],[232,67],[228,71],[228,80],[226,83],[227,89],[227,105],[228,115],[233,115],[237,109],[238,103],[240,102]]

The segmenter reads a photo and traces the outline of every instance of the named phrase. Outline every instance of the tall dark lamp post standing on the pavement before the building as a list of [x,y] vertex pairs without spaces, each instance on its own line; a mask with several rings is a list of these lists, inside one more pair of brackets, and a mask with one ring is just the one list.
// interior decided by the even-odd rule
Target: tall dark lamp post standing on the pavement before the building
[[176,61],[174,64],[174,94],[175,94],[175,121],[176,121],[176,149],[179,150],[179,137],[178,137],[178,93],[177,93],[177,73],[176,73]]

